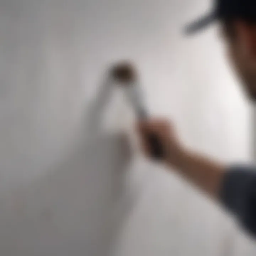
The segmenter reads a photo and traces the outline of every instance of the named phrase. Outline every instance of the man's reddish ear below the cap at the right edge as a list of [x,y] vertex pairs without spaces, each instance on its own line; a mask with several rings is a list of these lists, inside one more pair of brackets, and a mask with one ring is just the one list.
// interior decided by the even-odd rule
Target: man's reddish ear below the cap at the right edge
[[243,53],[248,58],[256,58],[256,26],[242,20],[235,21],[234,26]]

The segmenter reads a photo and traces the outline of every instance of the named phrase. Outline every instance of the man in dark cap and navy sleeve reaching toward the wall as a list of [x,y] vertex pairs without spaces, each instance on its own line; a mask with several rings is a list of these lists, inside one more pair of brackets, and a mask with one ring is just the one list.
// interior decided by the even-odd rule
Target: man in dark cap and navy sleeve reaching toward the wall
[[[228,56],[244,89],[256,101],[256,1],[218,0],[211,14],[186,27],[191,34],[219,21],[228,46]],[[139,122],[138,133],[146,155],[150,143],[145,134],[157,134],[164,149],[163,162],[218,200],[239,220],[241,227],[256,235],[256,168],[225,166],[186,148],[174,125],[165,119]]]

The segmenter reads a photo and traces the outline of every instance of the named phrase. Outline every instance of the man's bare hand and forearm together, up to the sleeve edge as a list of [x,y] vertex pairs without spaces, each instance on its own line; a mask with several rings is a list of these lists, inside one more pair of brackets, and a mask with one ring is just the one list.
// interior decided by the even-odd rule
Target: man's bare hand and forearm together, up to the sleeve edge
[[210,196],[219,199],[226,166],[191,150],[180,143],[174,126],[166,119],[146,120],[138,123],[138,132],[144,153],[151,156],[147,134],[155,134],[164,149],[163,162],[186,177]]

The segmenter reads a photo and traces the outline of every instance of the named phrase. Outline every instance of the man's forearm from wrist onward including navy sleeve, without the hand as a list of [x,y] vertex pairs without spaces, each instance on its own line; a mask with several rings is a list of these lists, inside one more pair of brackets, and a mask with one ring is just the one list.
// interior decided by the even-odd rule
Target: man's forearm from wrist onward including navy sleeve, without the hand
[[256,172],[254,166],[225,167],[201,155],[181,150],[169,165],[217,199],[234,214],[243,229],[256,237]]

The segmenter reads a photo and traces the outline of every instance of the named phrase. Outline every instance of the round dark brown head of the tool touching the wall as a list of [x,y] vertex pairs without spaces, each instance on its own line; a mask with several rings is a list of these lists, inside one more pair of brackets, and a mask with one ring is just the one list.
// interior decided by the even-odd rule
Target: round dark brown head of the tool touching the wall
[[138,74],[133,64],[122,62],[114,65],[111,69],[111,76],[121,85],[128,85],[138,80]]

